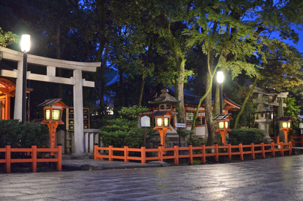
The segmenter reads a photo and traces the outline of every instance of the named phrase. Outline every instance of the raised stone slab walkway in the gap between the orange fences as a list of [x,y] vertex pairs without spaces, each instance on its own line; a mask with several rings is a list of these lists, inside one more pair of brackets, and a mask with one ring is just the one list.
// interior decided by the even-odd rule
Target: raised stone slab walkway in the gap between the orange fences
[[125,168],[152,168],[163,167],[167,163],[159,162],[158,164],[146,164],[122,161],[102,161],[94,159],[77,159],[62,160],[62,170],[79,171],[79,170],[103,170],[103,169],[125,169]]

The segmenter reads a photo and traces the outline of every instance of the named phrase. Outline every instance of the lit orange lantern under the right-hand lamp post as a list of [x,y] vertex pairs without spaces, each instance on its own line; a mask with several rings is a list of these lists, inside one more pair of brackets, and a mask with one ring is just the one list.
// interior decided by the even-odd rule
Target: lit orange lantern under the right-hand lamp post
[[217,132],[220,132],[221,134],[221,139],[222,139],[222,144],[226,145],[226,134],[228,131],[231,131],[229,129],[229,123],[230,120],[233,120],[233,118],[231,118],[231,114],[217,114],[217,116],[213,119],[217,121]]

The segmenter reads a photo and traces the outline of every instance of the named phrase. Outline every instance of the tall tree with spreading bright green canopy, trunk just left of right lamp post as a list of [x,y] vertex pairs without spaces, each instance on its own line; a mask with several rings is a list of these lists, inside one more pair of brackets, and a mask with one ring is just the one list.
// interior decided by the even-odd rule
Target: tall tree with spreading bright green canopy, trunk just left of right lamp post
[[[262,44],[266,39],[265,36],[273,31],[280,32],[281,37],[298,41],[298,35],[291,26],[301,26],[302,19],[298,15],[292,16],[289,13],[293,10],[302,13],[302,8],[300,1],[274,3],[243,0],[196,3],[192,9],[196,23],[187,34],[192,37],[189,46],[198,42],[203,47],[203,53],[208,56],[207,88],[212,87],[211,82],[217,67],[231,71],[233,77],[242,71],[251,77],[258,77],[258,70],[262,66],[260,63],[247,62],[247,57],[261,56],[261,61],[265,62]],[[292,11],[288,12],[288,9]],[[210,128],[208,144],[211,144],[215,132],[211,121],[211,90],[208,91],[205,111],[207,125]]]

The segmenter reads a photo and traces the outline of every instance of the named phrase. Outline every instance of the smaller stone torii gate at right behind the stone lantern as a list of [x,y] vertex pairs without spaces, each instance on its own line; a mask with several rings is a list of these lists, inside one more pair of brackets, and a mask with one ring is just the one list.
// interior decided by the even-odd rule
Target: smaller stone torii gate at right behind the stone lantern
[[[252,85],[249,86],[249,88],[252,88]],[[265,88],[265,89],[261,89],[259,87],[255,87],[254,90],[252,91],[253,93],[257,93],[258,94],[258,98],[254,99],[253,102],[254,103],[264,103],[264,105],[266,107],[268,107],[268,105],[271,106],[276,106],[278,107],[278,116],[284,116],[284,112],[283,112],[283,107],[286,107],[286,104],[283,103],[283,98],[286,98],[288,95],[288,92],[278,92],[277,90],[274,90],[272,88]],[[266,98],[264,98],[266,97]],[[270,117],[268,117],[269,120]],[[267,119],[264,119],[267,120]],[[263,121],[263,120],[260,120]],[[271,118],[270,118],[271,121]],[[269,122],[269,121],[267,121]],[[268,123],[267,123],[268,124]],[[265,128],[267,128],[267,131],[265,130],[265,132],[268,133],[268,126]],[[280,131],[281,125],[279,124],[279,136],[280,139],[284,139],[284,132]]]

